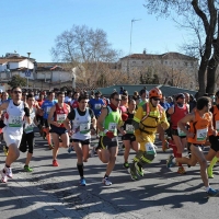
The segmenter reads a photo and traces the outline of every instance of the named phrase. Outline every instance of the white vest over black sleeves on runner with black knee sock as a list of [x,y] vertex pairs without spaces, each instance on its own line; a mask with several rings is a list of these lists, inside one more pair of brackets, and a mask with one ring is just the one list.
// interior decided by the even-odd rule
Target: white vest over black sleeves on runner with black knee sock
[[72,120],[72,139],[87,140],[91,138],[91,115],[89,108],[85,110],[85,115],[80,116],[77,108],[73,108],[76,116]]

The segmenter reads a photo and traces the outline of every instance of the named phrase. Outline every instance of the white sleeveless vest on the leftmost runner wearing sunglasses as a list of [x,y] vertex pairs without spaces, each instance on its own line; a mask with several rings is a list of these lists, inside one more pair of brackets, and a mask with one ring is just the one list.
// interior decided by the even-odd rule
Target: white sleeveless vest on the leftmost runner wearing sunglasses
[[13,101],[10,100],[7,113],[4,115],[5,127],[3,131],[7,134],[19,136],[23,134],[24,124],[24,102],[21,101],[20,105],[14,105]]

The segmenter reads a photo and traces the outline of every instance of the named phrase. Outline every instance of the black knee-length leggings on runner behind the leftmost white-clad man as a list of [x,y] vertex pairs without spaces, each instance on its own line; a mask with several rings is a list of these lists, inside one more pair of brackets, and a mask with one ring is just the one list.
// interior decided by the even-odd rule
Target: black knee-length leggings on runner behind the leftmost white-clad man
[[21,145],[20,145],[20,151],[21,152],[26,152],[28,148],[28,152],[33,153],[34,151],[34,132],[25,134],[23,132],[22,139],[21,139]]

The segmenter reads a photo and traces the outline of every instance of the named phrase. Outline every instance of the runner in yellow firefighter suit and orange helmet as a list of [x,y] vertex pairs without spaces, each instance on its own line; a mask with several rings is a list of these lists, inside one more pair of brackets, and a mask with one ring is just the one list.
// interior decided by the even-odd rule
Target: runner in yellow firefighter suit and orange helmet
[[163,129],[169,128],[164,110],[159,102],[162,97],[160,89],[154,88],[149,92],[149,103],[139,106],[134,116],[134,127],[136,140],[140,143],[140,149],[130,164],[130,175],[132,180],[138,180],[138,175],[143,176],[143,166],[151,163],[157,155],[154,139],[158,125]]

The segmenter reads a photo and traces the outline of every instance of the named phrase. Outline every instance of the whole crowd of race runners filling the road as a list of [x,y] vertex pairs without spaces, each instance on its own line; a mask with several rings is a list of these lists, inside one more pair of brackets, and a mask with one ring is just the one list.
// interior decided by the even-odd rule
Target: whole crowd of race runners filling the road
[[[113,92],[110,99],[104,99],[100,92],[95,92],[90,99],[79,92],[65,95],[64,92],[51,91],[36,97],[33,92],[22,95],[21,88],[13,88],[11,99],[7,93],[4,97],[1,95],[0,128],[8,147],[1,181],[7,183],[13,176],[11,165],[20,157],[20,151],[27,151],[24,170],[33,171],[30,162],[36,126],[53,150],[54,166],[59,165],[59,147],[73,147],[82,186],[87,185],[83,163],[94,152],[90,151],[91,135],[99,138],[99,145],[93,150],[106,163],[102,182],[108,186],[112,185],[110,175],[118,153],[118,131],[125,147],[123,165],[132,180],[143,176],[143,168],[157,157],[154,140],[158,132],[162,150],[173,150],[166,166],[177,165],[177,173],[185,174],[183,164],[193,166],[199,163],[207,194],[218,195],[219,192],[210,187],[208,178],[214,177],[212,168],[219,158],[219,92],[216,93],[216,103],[203,96],[193,107],[189,107],[188,93],[170,96],[169,104],[158,88],[149,92],[143,89],[139,94],[140,97],[136,99],[129,97],[127,92]],[[204,154],[201,149],[207,143],[210,150]],[[185,148],[188,157],[182,155]],[[136,151],[132,162],[128,161],[130,149]],[[209,166],[207,161],[210,161]]]

